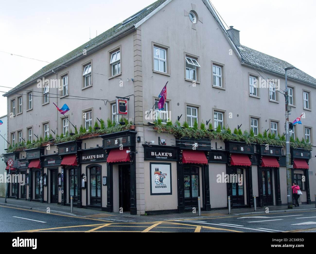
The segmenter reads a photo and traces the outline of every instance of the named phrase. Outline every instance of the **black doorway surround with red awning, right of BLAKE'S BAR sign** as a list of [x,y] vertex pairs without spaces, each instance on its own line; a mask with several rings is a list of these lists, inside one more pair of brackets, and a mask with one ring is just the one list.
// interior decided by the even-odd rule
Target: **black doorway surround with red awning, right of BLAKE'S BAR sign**
[[[103,139],[107,169],[106,207],[102,207],[104,211],[130,211],[130,214],[137,214],[136,133],[127,130],[100,136]],[[114,175],[117,177],[115,180]]]

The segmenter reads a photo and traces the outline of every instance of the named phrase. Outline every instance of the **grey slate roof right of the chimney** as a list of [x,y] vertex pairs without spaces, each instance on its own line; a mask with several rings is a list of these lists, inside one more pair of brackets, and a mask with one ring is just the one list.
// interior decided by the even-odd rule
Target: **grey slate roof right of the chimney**
[[[273,56],[269,56],[260,51],[246,47],[244,45],[240,45],[239,50],[241,53],[241,57],[243,58],[243,60],[246,61],[246,63],[250,62],[255,67],[257,65],[257,66],[266,68],[268,70],[278,72],[281,75],[285,75],[284,68],[289,67],[289,66],[294,66],[294,65],[289,64],[286,61],[275,58]],[[258,69],[258,71],[260,71],[260,69]],[[294,77],[302,81],[306,81],[306,82],[316,85],[316,79],[308,75],[304,71],[301,71],[299,69],[292,69],[287,72],[288,72],[288,77]]]

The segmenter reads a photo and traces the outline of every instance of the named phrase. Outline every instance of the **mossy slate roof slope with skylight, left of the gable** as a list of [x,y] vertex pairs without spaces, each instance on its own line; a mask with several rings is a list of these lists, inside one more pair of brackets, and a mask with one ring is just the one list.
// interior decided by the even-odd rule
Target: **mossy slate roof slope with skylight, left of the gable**
[[[125,28],[136,24],[138,21],[142,20],[144,17],[146,17],[149,13],[151,13],[152,11],[154,11],[157,7],[159,7],[161,4],[163,4],[164,2],[166,2],[167,0],[158,0],[155,3],[150,4],[149,6],[147,6],[146,8],[142,9],[145,10],[144,12],[142,12],[139,16],[137,16],[135,19],[131,20],[128,23],[125,23],[127,20],[129,20],[131,17],[133,17],[134,15],[136,15],[137,13],[131,15],[129,18],[125,19],[123,22],[115,25],[114,27],[108,29],[107,31],[105,31],[104,33],[98,35],[97,37],[93,38],[92,40],[89,40],[88,42],[86,42],[85,44],[77,47],[76,49],[74,49],[73,51],[71,51],[70,53],[62,56],[61,58],[55,60],[54,62],[44,66],[42,69],[40,69],[39,71],[35,72],[31,77],[28,77],[26,80],[24,80],[23,82],[21,82],[20,84],[18,84],[14,89],[26,84],[27,82],[31,81],[32,79],[39,77],[41,75],[43,75],[44,73],[46,73],[47,71],[50,71],[52,69],[54,69],[56,66],[59,66],[61,64],[63,64],[64,62],[72,59],[73,57],[82,54],[83,50],[86,49],[88,50],[89,48],[91,48],[92,46],[97,45],[98,43],[107,40],[108,38],[110,38],[111,36],[118,34],[120,31],[124,30]],[[141,10],[141,11],[142,11]],[[140,11],[140,12],[141,12]],[[124,25],[122,25],[124,24]],[[12,89],[12,90],[14,90]],[[10,90],[9,92],[11,92],[12,90]],[[8,92],[8,93],[9,93]]]

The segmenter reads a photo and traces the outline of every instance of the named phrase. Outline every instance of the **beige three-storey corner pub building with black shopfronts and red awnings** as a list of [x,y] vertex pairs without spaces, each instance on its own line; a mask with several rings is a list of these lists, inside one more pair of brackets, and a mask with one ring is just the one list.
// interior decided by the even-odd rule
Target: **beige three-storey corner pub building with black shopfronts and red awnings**
[[[155,131],[148,119],[155,105],[162,124],[241,125],[254,135],[282,135],[284,68],[292,65],[240,45],[239,32],[225,29],[207,0],[159,0],[4,94],[13,146],[50,134],[54,139],[74,131],[71,124],[117,123],[117,97],[128,98],[127,118],[135,126],[3,154],[5,161],[21,162],[11,174],[26,177],[25,185],[10,184],[9,198],[69,205],[73,197],[78,207],[131,214],[182,212],[197,207],[198,196],[204,210],[227,208],[228,196],[232,208],[252,207],[253,195],[258,206],[287,204],[284,147],[179,138]],[[39,87],[43,78],[60,86]],[[273,82],[256,85],[264,79]],[[159,111],[155,102],[167,82]],[[290,121],[305,113],[291,136],[313,145],[312,151],[291,148],[292,182],[301,187],[300,204],[310,204],[316,193],[316,79],[292,69],[288,86]],[[70,111],[61,115],[53,103],[66,103]],[[225,174],[243,183],[219,181]]]

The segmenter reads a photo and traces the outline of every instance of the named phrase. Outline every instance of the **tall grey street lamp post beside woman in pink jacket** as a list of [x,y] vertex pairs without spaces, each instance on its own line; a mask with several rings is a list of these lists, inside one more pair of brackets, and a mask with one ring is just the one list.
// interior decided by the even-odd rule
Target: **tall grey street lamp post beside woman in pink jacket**
[[290,154],[290,131],[289,131],[289,89],[287,71],[296,69],[294,66],[286,67],[285,70],[285,141],[286,141],[286,186],[288,193],[288,209],[293,209],[292,188],[291,188],[291,154]]

